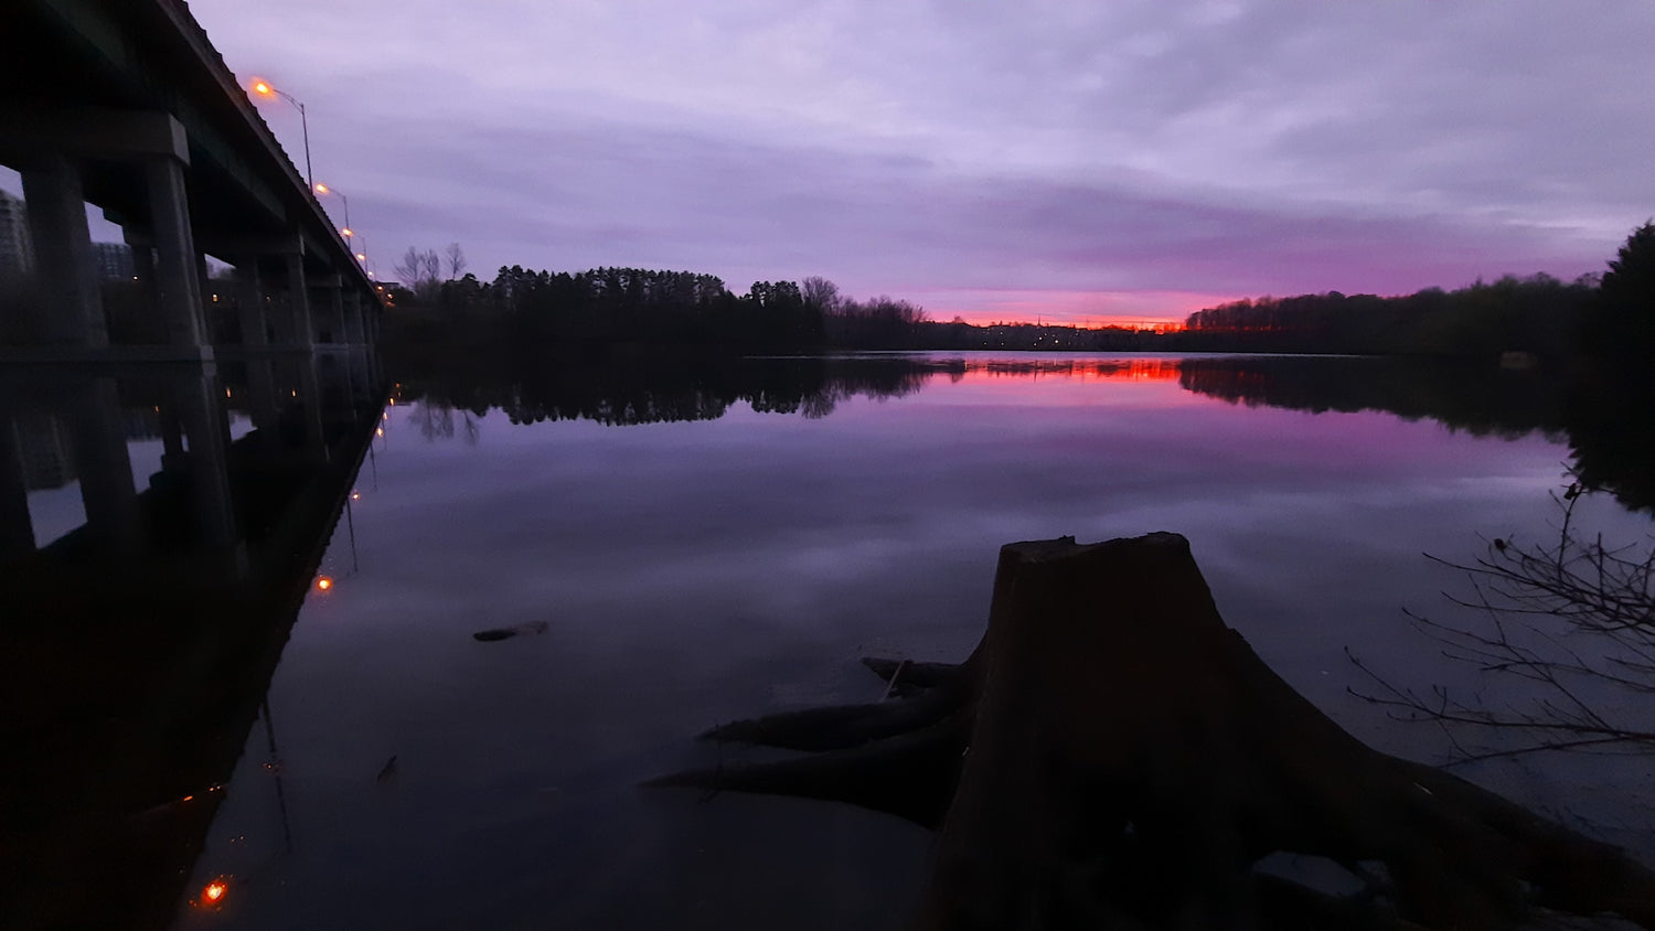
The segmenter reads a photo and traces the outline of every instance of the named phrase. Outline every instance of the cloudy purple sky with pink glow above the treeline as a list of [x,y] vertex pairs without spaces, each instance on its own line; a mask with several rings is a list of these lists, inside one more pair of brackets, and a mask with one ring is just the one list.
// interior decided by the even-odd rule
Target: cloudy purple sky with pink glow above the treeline
[[[1655,5],[195,0],[306,103],[382,278],[821,275],[1182,317],[1602,268],[1655,213]],[[261,104],[293,154],[298,112]]]

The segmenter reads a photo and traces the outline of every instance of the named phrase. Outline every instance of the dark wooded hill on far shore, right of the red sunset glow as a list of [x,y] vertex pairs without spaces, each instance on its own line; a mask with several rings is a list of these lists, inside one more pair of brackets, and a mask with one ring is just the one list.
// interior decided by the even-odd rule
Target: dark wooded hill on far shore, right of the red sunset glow
[[1241,352],[1559,356],[1574,349],[1597,293],[1594,276],[1566,283],[1534,275],[1400,298],[1339,291],[1256,298],[1190,314],[1172,342]]

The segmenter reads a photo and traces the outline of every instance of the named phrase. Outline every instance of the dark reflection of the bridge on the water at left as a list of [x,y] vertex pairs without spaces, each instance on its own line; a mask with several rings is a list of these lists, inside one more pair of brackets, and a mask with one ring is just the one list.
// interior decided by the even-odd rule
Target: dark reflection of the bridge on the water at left
[[[20,413],[53,422],[86,506],[35,547],[0,448],[0,913],[22,926],[170,919],[379,423],[348,359],[0,384],[0,438]],[[253,425],[233,442],[232,405]],[[132,410],[164,448],[142,488]]]

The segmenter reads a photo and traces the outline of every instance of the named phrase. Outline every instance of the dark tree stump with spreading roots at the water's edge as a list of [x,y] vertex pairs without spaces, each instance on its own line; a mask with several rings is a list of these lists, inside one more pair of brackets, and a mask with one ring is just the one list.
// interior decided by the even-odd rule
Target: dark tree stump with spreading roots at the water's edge
[[[1180,536],[1006,546],[965,663],[867,665],[897,698],[707,734],[808,756],[655,784],[938,830],[920,929],[1508,928],[1536,908],[1655,928],[1655,873],[1622,850],[1377,752],[1298,695],[1225,627]],[[1256,871],[1273,852],[1369,888]]]

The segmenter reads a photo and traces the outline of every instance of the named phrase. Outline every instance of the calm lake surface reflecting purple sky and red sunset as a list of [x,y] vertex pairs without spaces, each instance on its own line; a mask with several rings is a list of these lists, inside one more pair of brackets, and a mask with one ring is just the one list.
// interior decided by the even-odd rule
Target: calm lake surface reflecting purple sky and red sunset
[[[1435,728],[1352,695],[1372,681],[1347,650],[1398,685],[1499,698],[1403,609],[1453,620],[1442,592],[1466,592],[1423,554],[1466,562],[1486,539],[1554,534],[1572,458],[1544,374],[1375,359],[637,354],[391,375],[389,403],[348,390],[339,427],[313,433],[326,455],[281,473],[311,485],[260,526],[314,528],[318,546],[283,562],[296,582],[260,589],[290,599],[258,622],[276,630],[268,660],[237,666],[263,671],[238,673],[252,685],[222,701],[242,711],[202,731],[230,767],[200,787],[210,812],[156,799],[154,819],[195,827],[175,830],[187,855],[154,926],[900,928],[928,832],[639,782],[778,756],[695,741],[718,723],[877,699],[861,656],[965,658],[998,547],[1024,539],[1183,534],[1225,620],[1294,688],[1372,746],[1443,762]],[[192,397],[228,394],[232,466],[238,438],[306,417],[238,412],[270,374],[213,379]],[[290,382],[303,372],[275,377]],[[131,423],[142,392],[114,390]],[[164,437],[127,442],[139,488],[166,455]],[[232,480],[243,529],[242,489],[271,483]],[[40,547],[91,513],[74,488],[30,491]],[[305,523],[305,499],[344,513]],[[1579,519],[1650,532],[1609,496]],[[238,552],[257,567],[298,549]],[[192,623],[253,623],[228,595],[204,604],[222,614]],[[473,637],[490,628],[520,633]],[[189,719],[190,701],[154,714]],[[1647,858],[1645,771],[1460,769]]]

